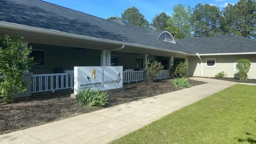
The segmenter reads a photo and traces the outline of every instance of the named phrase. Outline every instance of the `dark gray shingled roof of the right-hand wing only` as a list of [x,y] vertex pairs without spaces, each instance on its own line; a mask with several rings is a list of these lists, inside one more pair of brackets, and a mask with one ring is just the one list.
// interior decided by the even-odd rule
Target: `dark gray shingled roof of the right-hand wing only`
[[193,53],[215,54],[215,53],[247,53],[256,52],[256,40],[242,36],[213,36],[176,40],[178,45],[190,48]]

